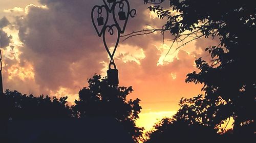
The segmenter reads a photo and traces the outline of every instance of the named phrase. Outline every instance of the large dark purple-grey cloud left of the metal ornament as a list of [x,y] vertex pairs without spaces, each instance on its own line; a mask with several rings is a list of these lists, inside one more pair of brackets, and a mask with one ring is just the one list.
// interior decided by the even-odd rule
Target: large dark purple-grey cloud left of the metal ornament
[[[91,69],[99,72],[102,68],[99,62],[106,56],[99,48],[101,42],[94,35],[84,2],[42,1],[48,9],[30,6],[28,15],[19,19],[19,37],[25,45],[21,58],[33,63],[35,80],[42,90],[54,91],[60,86],[72,89],[74,80],[86,82]],[[71,65],[84,59],[91,65],[79,65],[80,77],[72,74]]]

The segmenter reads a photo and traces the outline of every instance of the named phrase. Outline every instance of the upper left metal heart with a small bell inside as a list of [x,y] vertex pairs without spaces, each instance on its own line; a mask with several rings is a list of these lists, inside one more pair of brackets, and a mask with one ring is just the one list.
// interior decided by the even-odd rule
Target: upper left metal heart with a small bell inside
[[[102,9],[105,9],[105,12],[106,12],[106,18],[105,18],[105,21],[103,21],[103,25],[101,26],[96,26],[95,24],[95,20],[94,19],[94,11],[97,9],[98,11],[98,14],[99,14],[99,11],[102,13]],[[98,34],[99,37],[101,37],[103,31],[104,31],[104,28],[106,26],[106,23],[108,23],[109,21],[109,12],[108,12],[108,7],[102,5],[102,6],[94,6],[93,9],[92,9],[92,14],[91,14],[91,17],[92,17],[92,22],[93,22],[93,26]]]

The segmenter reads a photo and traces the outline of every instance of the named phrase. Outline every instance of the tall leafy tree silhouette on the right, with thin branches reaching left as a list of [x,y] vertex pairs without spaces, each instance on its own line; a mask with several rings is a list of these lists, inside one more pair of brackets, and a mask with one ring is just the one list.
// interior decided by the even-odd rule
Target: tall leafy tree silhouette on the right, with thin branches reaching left
[[[163,34],[168,31],[174,36],[173,42],[184,42],[181,46],[201,37],[217,37],[220,44],[205,49],[211,56],[211,62],[197,59],[199,72],[194,71],[187,75],[186,82],[203,84],[204,95],[182,99],[181,108],[168,124],[175,127],[177,122],[185,121],[187,125],[199,124],[217,130],[224,120],[232,117],[234,127],[231,133],[236,137],[250,136],[255,140],[254,2],[169,0],[169,4],[172,11],[164,10],[159,5],[148,7],[160,18],[167,19],[163,28],[133,32],[127,38],[140,35],[140,32],[143,35],[145,32],[160,31]],[[159,125],[162,127],[152,132],[149,135],[151,138],[160,136],[154,136],[155,133],[166,132],[165,124]],[[168,130],[172,132],[173,128]]]

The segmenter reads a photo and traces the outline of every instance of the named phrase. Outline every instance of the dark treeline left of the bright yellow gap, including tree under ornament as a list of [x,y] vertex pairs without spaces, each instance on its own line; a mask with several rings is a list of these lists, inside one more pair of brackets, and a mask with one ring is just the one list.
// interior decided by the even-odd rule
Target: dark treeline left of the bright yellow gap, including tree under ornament
[[[75,105],[72,106],[67,104],[68,97],[61,97],[60,99],[53,97],[51,99],[49,96],[35,97],[6,90],[5,94],[0,96],[0,131],[2,135],[0,139],[8,141],[5,133],[8,130],[8,123],[12,121],[62,121],[63,119],[83,119],[87,117],[98,117],[96,119],[112,117],[120,122],[124,130],[135,141],[138,141],[142,137],[143,131],[143,128],[135,125],[135,121],[139,118],[138,114],[141,112],[140,100],[126,99],[126,96],[133,92],[132,87],[109,85],[107,79],[100,75],[94,75],[88,80],[88,83],[88,87],[79,91],[79,100],[76,100]],[[111,128],[109,131],[111,131]]]

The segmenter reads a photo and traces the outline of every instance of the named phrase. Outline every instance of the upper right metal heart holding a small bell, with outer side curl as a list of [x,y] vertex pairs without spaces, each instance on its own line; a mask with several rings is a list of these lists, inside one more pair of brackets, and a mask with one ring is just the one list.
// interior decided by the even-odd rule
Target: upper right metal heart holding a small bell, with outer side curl
[[[116,7],[120,7],[120,5],[124,5],[124,4],[126,4],[127,9],[125,11],[125,13],[126,13],[125,20],[124,20],[123,24],[121,25],[121,24],[119,24],[119,23],[122,23],[122,22],[120,22],[121,20],[117,20],[117,18],[116,18],[115,9],[116,9]],[[133,17],[135,17],[135,15],[136,15],[136,10],[133,9],[130,11],[130,4],[127,0],[122,0],[122,1],[115,3],[114,9],[113,9],[113,19],[114,19],[114,21],[117,25],[117,28],[121,34],[123,34],[125,31],[129,16],[131,16],[133,18]]]

